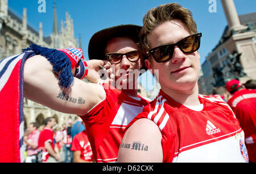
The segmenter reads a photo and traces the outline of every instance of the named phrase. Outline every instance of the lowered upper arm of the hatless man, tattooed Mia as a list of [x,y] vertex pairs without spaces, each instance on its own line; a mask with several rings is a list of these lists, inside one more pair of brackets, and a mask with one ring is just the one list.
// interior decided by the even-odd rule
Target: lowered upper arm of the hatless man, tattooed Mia
[[161,139],[161,132],[154,122],[139,119],[123,136],[118,163],[162,163]]

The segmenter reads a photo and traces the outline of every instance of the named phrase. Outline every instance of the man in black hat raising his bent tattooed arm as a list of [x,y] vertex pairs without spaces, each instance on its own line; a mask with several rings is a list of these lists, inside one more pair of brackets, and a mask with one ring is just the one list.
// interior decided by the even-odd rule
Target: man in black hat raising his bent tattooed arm
[[[60,75],[52,72],[52,65],[43,56],[31,57],[25,63],[25,97],[52,109],[79,115],[85,122],[97,162],[117,161],[125,127],[149,103],[137,94],[135,86],[142,67],[137,47],[140,29],[140,26],[121,25],[92,36],[85,78],[94,84],[74,78],[71,87],[60,88]],[[112,64],[113,71],[106,60]],[[97,71],[102,65],[114,74],[114,86],[108,83],[109,77],[100,80]]]

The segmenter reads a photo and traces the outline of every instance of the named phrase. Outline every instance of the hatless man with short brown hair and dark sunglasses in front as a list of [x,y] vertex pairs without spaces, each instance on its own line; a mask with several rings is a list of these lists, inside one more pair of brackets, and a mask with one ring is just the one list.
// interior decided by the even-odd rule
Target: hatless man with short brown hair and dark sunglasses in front
[[189,10],[160,5],[143,18],[141,51],[159,95],[130,122],[118,162],[245,162],[244,133],[220,98],[201,96],[201,34]]

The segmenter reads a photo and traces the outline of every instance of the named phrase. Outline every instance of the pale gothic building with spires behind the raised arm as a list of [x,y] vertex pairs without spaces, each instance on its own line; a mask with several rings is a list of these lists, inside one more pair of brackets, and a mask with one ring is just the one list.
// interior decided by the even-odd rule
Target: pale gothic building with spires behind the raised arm
[[[43,23],[39,22],[39,31],[28,25],[27,9],[23,8],[22,19],[8,8],[8,0],[0,0],[0,59],[16,55],[31,43],[48,48],[79,47],[78,39],[74,37],[73,19],[66,12],[65,21],[61,20],[59,31],[56,6],[53,8],[53,31],[50,36],[43,36]],[[81,42],[80,42],[81,43]],[[55,117],[59,126],[75,119],[76,115],[64,114],[51,110],[39,103],[24,98],[23,113],[25,127],[31,122],[43,125],[47,117]]]

